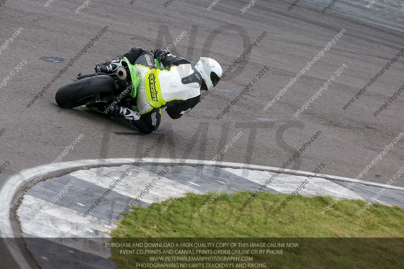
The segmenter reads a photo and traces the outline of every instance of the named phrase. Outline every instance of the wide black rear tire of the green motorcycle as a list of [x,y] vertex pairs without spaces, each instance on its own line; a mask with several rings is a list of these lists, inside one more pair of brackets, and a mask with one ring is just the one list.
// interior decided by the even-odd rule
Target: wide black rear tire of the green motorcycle
[[[107,75],[86,77],[61,87],[55,100],[59,106],[72,109],[93,99],[99,93],[111,93],[115,90],[115,80]],[[105,94],[104,94],[105,95]]]

